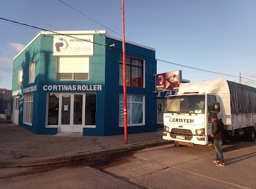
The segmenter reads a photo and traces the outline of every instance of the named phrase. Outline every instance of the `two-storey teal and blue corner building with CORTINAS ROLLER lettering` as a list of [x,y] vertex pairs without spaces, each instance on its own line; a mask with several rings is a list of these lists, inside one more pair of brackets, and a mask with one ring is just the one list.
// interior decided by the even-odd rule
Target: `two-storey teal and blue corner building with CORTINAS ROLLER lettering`
[[[128,133],[157,128],[156,50],[126,43]],[[122,40],[40,32],[13,59],[12,122],[33,133],[124,133]]]

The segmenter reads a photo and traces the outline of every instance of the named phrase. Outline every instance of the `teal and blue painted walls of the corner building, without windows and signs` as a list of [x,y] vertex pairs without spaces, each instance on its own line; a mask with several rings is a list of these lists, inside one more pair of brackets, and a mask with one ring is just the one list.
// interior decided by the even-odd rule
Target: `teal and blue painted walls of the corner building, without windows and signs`
[[[74,34],[72,34],[74,35]],[[45,128],[47,93],[43,86],[47,85],[102,85],[102,91],[97,93],[96,99],[96,128],[84,128],[84,135],[118,135],[124,133],[124,128],[119,127],[119,94],[123,87],[119,85],[119,57],[122,54],[122,42],[107,38],[104,34],[94,34],[94,55],[89,56],[90,80],[56,80],[56,56],[52,56],[53,34],[40,35],[13,61],[13,86],[12,91],[37,86],[33,92],[33,125],[22,123],[23,103],[20,104],[19,125],[38,134],[56,134],[57,128]],[[110,41],[109,41],[110,40]],[[115,43],[115,48],[104,47],[98,44]],[[143,56],[142,56],[143,55]],[[156,126],[156,93],[155,76],[156,58],[155,51],[126,44],[126,56],[145,60],[145,88],[127,87],[127,94],[145,95],[145,125],[129,126],[129,133],[152,132]],[[28,84],[29,63],[36,61],[35,82]],[[19,70],[23,68],[23,85],[18,87]],[[54,93],[65,93],[54,91]],[[85,93],[72,91],[72,93]],[[23,94],[20,94],[22,97]]]

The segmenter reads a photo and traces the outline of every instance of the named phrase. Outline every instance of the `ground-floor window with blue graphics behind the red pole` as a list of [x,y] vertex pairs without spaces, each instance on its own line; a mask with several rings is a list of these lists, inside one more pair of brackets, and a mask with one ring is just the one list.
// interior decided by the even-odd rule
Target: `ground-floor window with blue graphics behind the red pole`
[[[144,96],[127,94],[127,125],[143,125],[145,113],[143,111]],[[119,94],[119,126],[124,126],[124,96]]]

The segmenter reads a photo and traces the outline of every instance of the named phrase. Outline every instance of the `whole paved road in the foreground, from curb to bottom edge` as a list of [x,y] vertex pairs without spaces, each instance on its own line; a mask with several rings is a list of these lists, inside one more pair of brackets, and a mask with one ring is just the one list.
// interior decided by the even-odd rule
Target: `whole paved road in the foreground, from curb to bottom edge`
[[173,144],[80,162],[0,170],[0,188],[256,188],[256,141],[228,142],[225,167],[212,146]]

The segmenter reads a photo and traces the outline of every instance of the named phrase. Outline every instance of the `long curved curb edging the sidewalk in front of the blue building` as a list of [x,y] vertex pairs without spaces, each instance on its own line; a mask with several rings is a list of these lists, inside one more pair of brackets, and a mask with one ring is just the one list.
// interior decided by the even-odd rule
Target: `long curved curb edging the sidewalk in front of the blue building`
[[76,153],[71,155],[61,155],[61,156],[51,156],[44,158],[34,158],[27,160],[9,160],[6,162],[0,162],[0,168],[6,167],[28,167],[33,165],[45,165],[61,162],[71,162],[77,160],[84,160],[87,158],[99,157],[104,155],[112,155],[115,153],[122,153],[125,151],[132,151],[135,149],[143,149],[147,147],[162,146],[167,144],[172,144],[172,140],[155,140],[151,142],[138,142],[134,144],[128,144],[127,146],[113,147],[110,149],[100,149],[97,151],[88,151],[82,153]]

